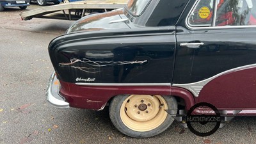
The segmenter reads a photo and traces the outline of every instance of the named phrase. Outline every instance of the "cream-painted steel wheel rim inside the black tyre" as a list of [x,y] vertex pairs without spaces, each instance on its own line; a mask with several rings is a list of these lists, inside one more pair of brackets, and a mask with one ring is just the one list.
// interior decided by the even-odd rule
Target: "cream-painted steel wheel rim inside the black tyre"
[[130,95],[124,100],[120,117],[133,131],[150,131],[163,124],[167,117],[166,101],[160,95]]

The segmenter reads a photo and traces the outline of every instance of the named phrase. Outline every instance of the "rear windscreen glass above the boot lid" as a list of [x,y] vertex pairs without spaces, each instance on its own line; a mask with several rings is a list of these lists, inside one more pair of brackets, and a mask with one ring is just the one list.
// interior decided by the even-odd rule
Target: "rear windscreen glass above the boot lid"
[[127,3],[127,10],[134,16],[139,16],[148,6],[151,0],[130,0]]

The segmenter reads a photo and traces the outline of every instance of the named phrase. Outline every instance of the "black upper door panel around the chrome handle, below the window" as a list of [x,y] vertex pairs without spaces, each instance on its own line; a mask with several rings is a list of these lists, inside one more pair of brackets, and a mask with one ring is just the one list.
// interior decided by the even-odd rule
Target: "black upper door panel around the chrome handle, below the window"
[[[232,68],[256,63],[255,28],[189,31],[177,28],[173,83],[194,83]],[[180,43],[203,42],[198,49]]]

